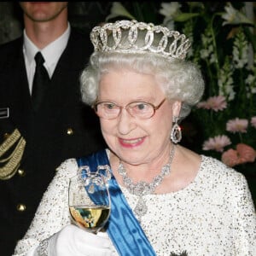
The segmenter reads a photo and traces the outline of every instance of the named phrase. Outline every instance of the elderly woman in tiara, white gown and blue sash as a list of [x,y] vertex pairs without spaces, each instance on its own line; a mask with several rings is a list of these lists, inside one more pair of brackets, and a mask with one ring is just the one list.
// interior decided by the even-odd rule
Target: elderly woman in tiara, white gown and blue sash
[[[108,148],[66,160],[15,255],[256,255],[253,201],[241,173],[178,145],[179,121],[204,82],[179,32],[136,20],[96,26],[81,76]],[[83,142],[81,142],[83,143]],[[67,190],[79,165],[110,166],[106,232],[71,224]]]

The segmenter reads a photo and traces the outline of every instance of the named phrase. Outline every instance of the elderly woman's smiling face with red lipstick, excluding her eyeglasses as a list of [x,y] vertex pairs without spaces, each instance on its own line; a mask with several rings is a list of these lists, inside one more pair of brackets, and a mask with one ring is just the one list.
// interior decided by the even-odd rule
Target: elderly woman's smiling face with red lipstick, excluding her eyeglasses
[[[124,107],[130,102],[150,102],[158,106],[165,94],[154,76],[118,70],[102,76],[98,100]],[[100,119],[102,135],[117,156],[131,164],[146,164],[170,149],[172,103],[164,102],[150,119],[131,117],[124,108],[116,119]]]

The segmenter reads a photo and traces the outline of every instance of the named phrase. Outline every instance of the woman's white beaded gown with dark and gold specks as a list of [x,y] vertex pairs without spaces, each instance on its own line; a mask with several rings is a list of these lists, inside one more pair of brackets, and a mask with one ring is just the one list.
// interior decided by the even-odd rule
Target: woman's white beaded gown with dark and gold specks
[[[148,212],[141,225],[158,256],[255,256],[256,214],[247,181],[241,173],[202,155],[195,180],[164,195],[145,195]],[[23,256],[71,223],[67,204],[75,159],[64,161],[49,184],[26,235],[15,247]],[[134,209],[137,195],[121,187]],[[176,253],[176,254],[174,254]],[[118,255],[118,253],[116,253]]]

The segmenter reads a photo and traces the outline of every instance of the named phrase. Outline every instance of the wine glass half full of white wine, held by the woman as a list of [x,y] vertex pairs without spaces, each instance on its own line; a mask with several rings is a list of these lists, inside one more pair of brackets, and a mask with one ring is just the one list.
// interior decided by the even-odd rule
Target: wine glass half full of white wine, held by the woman
[[78,172],[69,182],[68,206],[74,224],[96,234],[110,214],[107,177],[98,172]]

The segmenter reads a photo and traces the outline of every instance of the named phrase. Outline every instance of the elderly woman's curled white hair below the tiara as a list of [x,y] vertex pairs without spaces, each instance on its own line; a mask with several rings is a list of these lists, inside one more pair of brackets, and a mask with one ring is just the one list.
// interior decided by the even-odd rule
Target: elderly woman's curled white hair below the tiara
[[102,74],[128,68],[137,73],[154,74],[157,83],[168,100],[182,102],[179,118],[186,117],[191,108],[201,100],[204,80],[194,63],[173,59],[151,52],[119,53],[95,52],[90,56],[88,67],[81,74],[82,101],[88,105],[96,102]]

